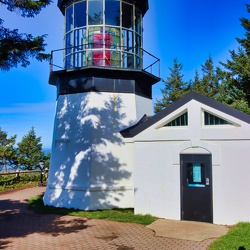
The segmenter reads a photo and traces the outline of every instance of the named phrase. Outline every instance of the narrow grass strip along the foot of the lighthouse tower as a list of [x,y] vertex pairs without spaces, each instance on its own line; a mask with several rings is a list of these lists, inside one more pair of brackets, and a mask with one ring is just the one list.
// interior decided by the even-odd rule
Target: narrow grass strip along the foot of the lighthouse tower
[[55,208],[44,206],[43,196],[39,195],[29,200],[29,209],[39,213],[52,213],[61,215],[81,216],[89,219],[104,219],[119,222],[131,222],[142,225],[149,225],[158,218],[151,215],[135,215],[134,209],[111,209],[97,211],[81,211],[76,209]]

